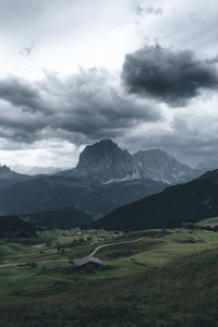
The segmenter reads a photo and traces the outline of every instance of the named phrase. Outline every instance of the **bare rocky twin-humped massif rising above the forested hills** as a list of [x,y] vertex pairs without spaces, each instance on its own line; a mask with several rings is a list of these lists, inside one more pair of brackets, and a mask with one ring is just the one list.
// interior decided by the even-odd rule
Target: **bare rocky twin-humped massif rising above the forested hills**
[[160,149],[140,150],[132,155],[112,140],[101,140],[85,147],[76,168],[66,175],[100,183],[146,178],[173,184],[192,179],[194,170]]

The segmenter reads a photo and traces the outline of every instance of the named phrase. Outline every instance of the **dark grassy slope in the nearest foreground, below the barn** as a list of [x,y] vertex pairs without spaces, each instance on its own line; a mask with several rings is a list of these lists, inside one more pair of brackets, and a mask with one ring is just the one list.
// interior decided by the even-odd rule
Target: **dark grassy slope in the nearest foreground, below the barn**
[[122,278],[36,279],[33,289],[8,295],[0,324],[218,326],[217,269],[218,251],[213,250]]

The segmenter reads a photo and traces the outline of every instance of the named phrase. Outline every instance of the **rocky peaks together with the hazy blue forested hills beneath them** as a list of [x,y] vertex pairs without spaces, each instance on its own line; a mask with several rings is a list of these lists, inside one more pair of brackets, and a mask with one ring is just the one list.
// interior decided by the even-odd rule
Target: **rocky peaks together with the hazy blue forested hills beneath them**
[[[159,149],[130,154],[111,140],[88,145],[75,168],[26,175],[0,167],[0,214],[27,215],[68,207],[95,219],[199,175]],[[75,215],[77,217],[77,215]]]

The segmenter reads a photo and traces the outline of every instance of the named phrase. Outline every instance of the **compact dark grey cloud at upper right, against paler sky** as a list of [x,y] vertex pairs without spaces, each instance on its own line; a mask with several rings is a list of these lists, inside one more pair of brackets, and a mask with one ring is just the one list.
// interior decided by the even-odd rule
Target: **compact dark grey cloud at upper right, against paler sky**
[[125,56],[122,80],[133,94],[150,96],[170,106],[184,106],[202,88],[218,87],[211,60],[199,60],[192,51],[144,47]]

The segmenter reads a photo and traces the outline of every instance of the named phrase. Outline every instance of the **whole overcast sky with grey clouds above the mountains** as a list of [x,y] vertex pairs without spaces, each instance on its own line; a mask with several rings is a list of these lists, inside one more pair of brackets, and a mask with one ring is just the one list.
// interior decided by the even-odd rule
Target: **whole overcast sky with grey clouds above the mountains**
[[0,0],[0,164],[112,138],[218,159],[216,0]]

